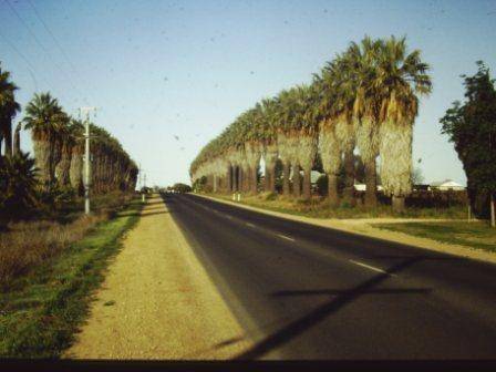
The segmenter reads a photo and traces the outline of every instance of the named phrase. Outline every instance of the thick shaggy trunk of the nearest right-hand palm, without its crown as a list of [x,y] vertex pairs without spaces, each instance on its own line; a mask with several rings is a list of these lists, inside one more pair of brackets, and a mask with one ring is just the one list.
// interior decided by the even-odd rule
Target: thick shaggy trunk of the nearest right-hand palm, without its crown
[[409,120],[388,120],[380,126],[381,180],[395,211],[404,210],[404,197],[412,192],[412,132]]

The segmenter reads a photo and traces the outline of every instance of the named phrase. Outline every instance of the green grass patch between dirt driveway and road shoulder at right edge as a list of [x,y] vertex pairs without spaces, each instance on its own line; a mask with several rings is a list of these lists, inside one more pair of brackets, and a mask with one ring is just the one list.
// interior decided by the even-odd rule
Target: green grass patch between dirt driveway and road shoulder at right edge
[[496,229],[486,223],[405,223],[374,224],[373,226],[442,242],[496,252]]

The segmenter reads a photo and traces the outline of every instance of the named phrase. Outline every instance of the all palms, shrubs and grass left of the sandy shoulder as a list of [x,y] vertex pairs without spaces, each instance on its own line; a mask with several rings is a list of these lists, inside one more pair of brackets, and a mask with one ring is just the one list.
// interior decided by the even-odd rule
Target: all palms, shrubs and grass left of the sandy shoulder
[[[85,123],[49,92],[21,107],[18,90],[0,64],[0,356],[53,358],[138,218],[138,168],[116,138],[87,123],[92,214],[83,215]],[[21,151],[24,130],[34,157]]]

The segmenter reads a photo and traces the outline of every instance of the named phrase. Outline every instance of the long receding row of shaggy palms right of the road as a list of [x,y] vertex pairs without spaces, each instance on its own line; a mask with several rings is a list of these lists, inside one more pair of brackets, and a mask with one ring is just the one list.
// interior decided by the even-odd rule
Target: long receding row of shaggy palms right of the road
[[[365,166],[365,204],[376,205],[380,161],[383,189],[393,197],[393,207],[402,209],[412,189],[418,96],[432,89],[427,71],[418,50],[407,52],[405,38],[365,35],[360,43],[351,42],[313,74],[311,84],[283,90],[239,115],[194,159],[192,180],[206,178],[215,190],[255,194],[264,157],[266,192],[275,192],[276,163],[281,162],[282,193],[310,198],[311,169],[320,156],[329,200],[335,206],[342,199],[353,203],[353,153],[358,151]],[[342,166],[345,185],[340,194]]]

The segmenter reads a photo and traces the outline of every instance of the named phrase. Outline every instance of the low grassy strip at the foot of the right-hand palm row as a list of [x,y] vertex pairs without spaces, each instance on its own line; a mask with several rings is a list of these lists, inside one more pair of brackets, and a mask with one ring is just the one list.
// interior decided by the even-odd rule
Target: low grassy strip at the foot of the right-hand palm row
[[[225,200],[231,200],[231,195],[210,195]],[[465,218],[464,207],[451,208],[406,208],[402,213],[394,213],[391,206],[379,205],[375,208],[365,206],[341,205],[331,208],[328,200],[322,197],[312,197],[311,200],[294,200],[275,194],[259,194],[256,196],[242,196],[241,202],[252,207],[286,213],[297,216],[313,218],[376,218],[376,217],[401,217],[401,218]]]

